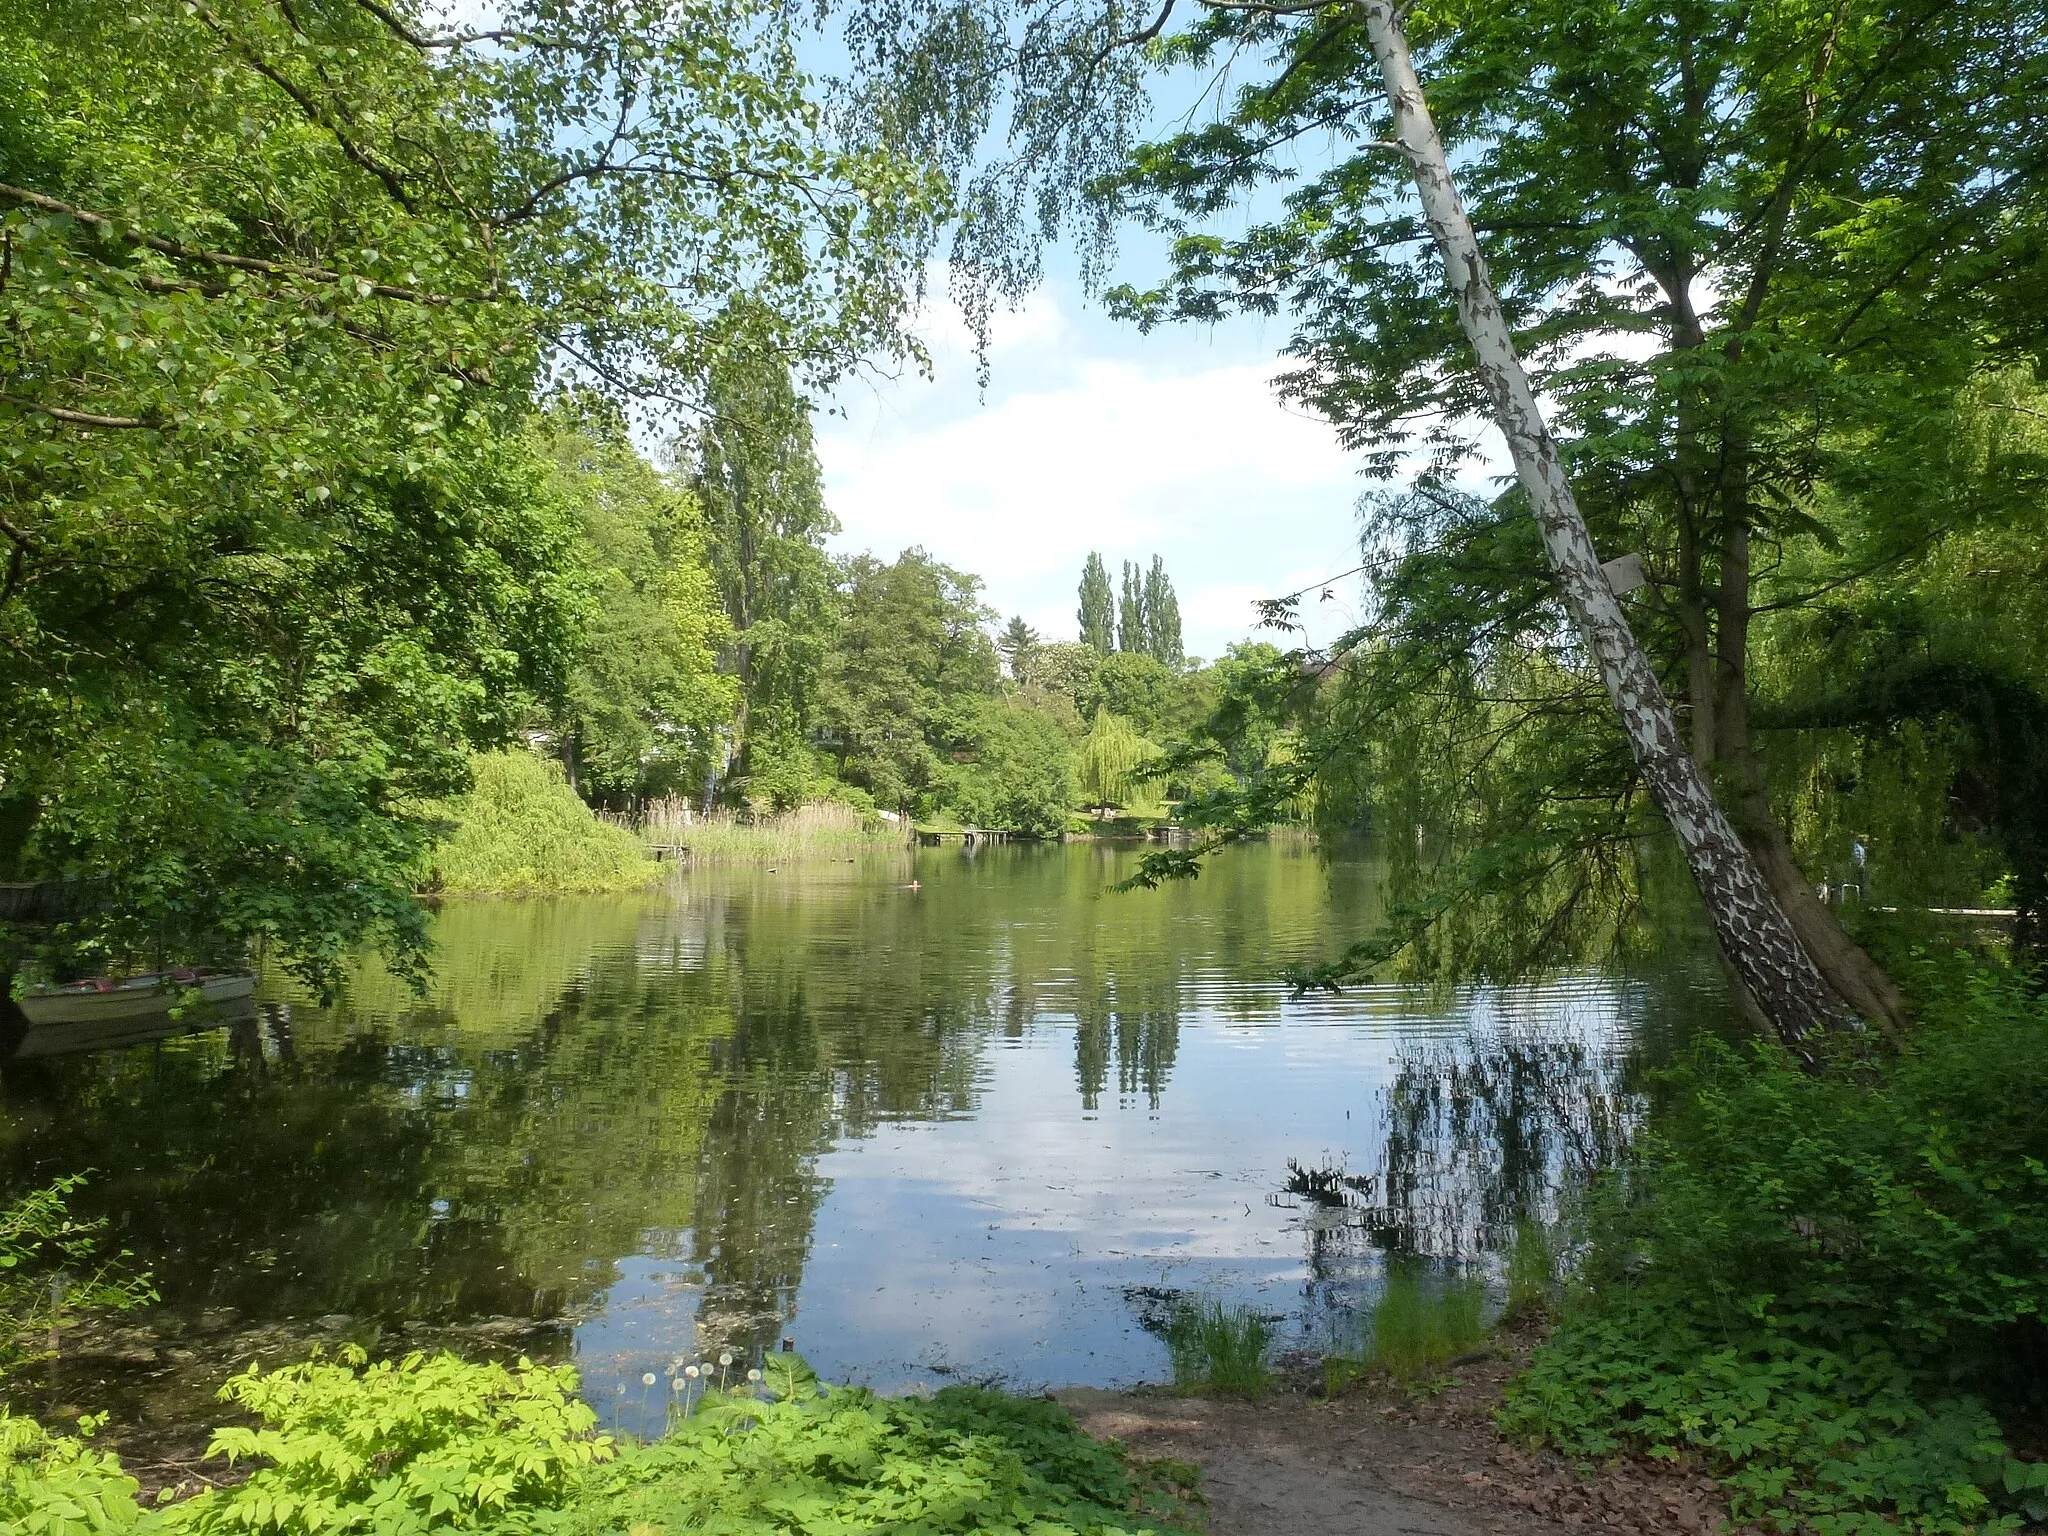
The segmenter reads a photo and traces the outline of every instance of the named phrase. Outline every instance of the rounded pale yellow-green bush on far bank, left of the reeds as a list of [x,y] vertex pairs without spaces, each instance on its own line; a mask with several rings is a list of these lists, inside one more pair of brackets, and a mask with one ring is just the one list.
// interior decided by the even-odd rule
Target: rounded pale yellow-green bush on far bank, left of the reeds
[[430,879],[449,895],[631,891],[662,874],[633,834],[590,813],[561,768],[518,748],[477,758],[475,784],[446,817]]

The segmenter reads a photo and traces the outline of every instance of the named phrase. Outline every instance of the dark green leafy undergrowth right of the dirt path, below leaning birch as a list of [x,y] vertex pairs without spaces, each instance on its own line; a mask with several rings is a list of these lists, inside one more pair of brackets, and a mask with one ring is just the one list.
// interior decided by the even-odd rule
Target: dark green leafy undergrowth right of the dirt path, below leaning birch
[[1827,1536],[2048,1518],[2048,1001],[1997,965],[1894,967],[1919,1024],[1802,1073],[1700,1044],[1587,1204],[1507,1432],[1708,1464],[1737,1520]]

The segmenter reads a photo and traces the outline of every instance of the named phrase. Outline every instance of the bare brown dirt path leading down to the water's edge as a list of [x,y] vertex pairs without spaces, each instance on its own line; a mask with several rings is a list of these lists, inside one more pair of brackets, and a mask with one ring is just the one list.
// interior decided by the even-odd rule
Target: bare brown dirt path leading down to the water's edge
[[1362,1384],[1323,1401],[1057,1393],[1094,1436],[1139,1458],[1202,1468],[1210,1536],[1550,1536],[1722,1530],[1702,1477],[1624,1464],[1581,1473],[1501,1440],[1493,1407],[1520,1350],[1468,1362],[1456,1384],[1409,1395]]

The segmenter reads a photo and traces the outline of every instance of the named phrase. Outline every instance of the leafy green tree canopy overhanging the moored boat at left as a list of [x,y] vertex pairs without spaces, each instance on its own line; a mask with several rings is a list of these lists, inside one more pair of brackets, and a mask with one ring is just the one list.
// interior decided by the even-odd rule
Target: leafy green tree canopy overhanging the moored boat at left
[[907,346],[938,188],[834,147],[776,6],[492,14],[0,8],[0,870],[92,879],[78,965],[416,961],[412,811],[592,596],[537,393],[688,397],[739,303],[807,373]]

